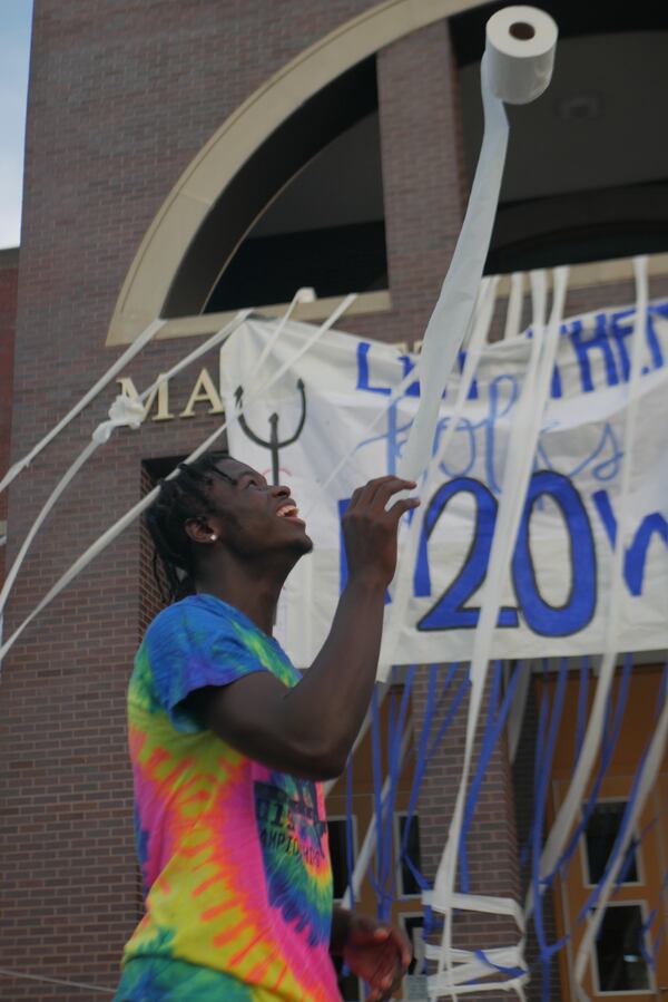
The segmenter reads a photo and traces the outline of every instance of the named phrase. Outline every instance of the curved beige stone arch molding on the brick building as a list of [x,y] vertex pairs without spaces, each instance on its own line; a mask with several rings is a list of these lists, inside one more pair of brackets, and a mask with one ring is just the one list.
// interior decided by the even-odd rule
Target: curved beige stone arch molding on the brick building
[[[223,123],[160,206],[124,281],[107,344],[131,343],[160,315],[180,261],[220,193],[304,100],[385,46],[481,2],[385,0],[320,39],[265,81]],[[213,315],[174,320],[163,335],[208,332],[213,321]]]

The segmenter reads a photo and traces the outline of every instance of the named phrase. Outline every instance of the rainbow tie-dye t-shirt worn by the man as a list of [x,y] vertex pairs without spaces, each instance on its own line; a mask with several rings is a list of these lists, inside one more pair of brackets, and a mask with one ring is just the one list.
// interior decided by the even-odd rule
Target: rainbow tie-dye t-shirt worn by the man
[[[256,671],[299,681],[275,640],[212,595],[170,605],[139,649],[128,723],[146,915],[117,998],[136,998],[130,971],[146,988],[151,964],[157,984],[173,962],[175,977],[205,969],[207,984],[219,981],[212,998],[341,999],[321,787],[246,758],[183,706],[195,689]],[[151,1000],[150,989],[137,998]]]

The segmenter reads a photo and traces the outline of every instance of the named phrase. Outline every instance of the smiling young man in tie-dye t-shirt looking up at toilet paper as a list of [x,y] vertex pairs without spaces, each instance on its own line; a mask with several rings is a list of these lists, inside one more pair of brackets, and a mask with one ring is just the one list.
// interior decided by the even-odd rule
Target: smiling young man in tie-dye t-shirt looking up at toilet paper
[[348,580],[302,678],[272,638],[312,549],[289,489],[225,454],[181,465],[147,523],[176,596],[128,692],[146,915],[116,1002],[335,1002],[330,954],[385,999],[410,963],[397,931],[332,908],[320,780],[338,776],[375,680],[384,594],[414,487],[381,477],[343,519]]

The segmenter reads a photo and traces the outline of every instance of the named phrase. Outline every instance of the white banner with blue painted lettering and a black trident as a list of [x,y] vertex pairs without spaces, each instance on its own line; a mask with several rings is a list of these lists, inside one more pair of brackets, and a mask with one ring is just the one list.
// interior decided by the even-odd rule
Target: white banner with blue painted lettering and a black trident
[[[633,315],[632,309],[609,310],[562,327],[508,567],[494,656],[597,653],[603,648]],[[220,388],[229,415],[239,387],[250,389],[246,380],[275,327],[247,321],[223,347]],[[287,323],[253,381],[287,362],[313,330]],[[399,573],[410,575],[411,597],[400,629],[391,631],[392,650],[383,649],[384,664],[470,658],[530,338],[528,332],[484,348],[446,453],[430,481],[420,485],[418,555],[410,567],[400,556]],[[625,534],[622,651],[668,646],[668,302],[650,305],[642,354]],[[392,346],[330,331],[265,399],[248,405],[242,422],[230,424],[230,453],[269,480],[278,470],[315,544],[288,580],[277,624],[279,640],[299,665],[310,664],[320,650],[345,582],[340,516],[346,502],[355,487],[396,470],[419,387],[409,385],[397,399],[393,390],[414,364],[414,356],[400,354]],[[435,453],[456,393],[453,376],[441,407]],[[386,621],[390,595],[387,601]]]

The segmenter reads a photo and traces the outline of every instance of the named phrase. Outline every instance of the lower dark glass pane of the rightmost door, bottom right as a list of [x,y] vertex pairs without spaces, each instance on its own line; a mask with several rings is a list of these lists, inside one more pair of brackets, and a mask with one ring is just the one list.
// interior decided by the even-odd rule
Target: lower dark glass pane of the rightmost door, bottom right
[[600,992],[649,989],[649,973],[640,950],[641,936],[640,905],[606,908],[596,944]]

